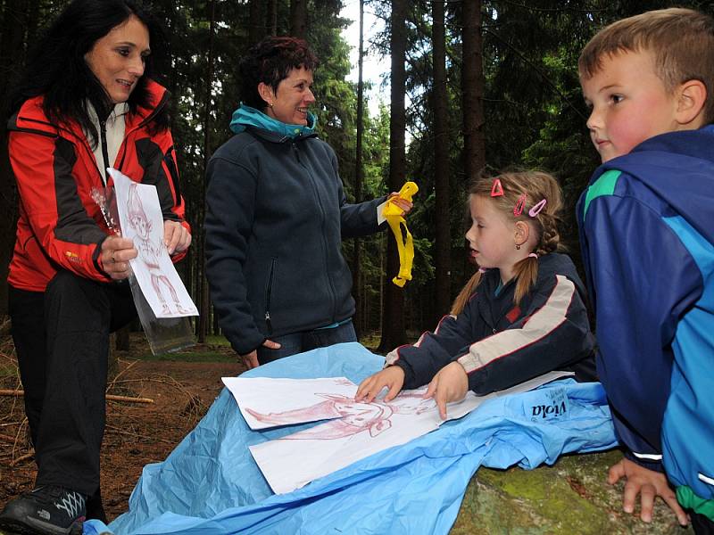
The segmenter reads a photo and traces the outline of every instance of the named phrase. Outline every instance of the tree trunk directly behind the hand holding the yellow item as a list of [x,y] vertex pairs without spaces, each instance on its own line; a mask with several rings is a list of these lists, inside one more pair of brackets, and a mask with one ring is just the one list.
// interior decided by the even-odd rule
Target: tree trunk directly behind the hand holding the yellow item
[[[406,113],[404,111],[406,60],[406,16],[407,0],[392,0],[392,76],[391,76],[391,111],[389,120],[389,189],[399,191],[406,176],[406,157],[404,152],[404,130]],[[386,283],[385,310],[382,317],[382,339],[379,350],[393,350],[406,340],[404,332],[404,295],[403,289],[392,283],[392,277],[399,272],[399,256],[396,243],[390,236],[386,245]]]

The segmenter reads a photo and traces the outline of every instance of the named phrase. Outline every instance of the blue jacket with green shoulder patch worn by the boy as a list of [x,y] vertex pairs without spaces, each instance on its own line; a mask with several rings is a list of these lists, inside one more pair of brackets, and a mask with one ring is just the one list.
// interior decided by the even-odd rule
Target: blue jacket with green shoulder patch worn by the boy
[[696,509],[714,498],[714,126],[603,164],[577,219],[619,440]]

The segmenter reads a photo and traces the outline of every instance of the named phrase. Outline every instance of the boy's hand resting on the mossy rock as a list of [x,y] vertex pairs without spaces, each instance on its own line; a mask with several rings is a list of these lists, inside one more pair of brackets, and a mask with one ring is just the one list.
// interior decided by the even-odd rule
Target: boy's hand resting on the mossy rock
[[654,498],[659,496],[675,514],[677,521],[685,526],[689,521],[681,506],[677,503],[674,490],[669,487],[664,473],[655,472],[623,458],[617,465],[610,466],[608,482],[617,483],[620,478],[626,478],[625,490],[622,494],[622,509],[626,513],[635,512],[635,500],[640,495],[640,518],[643,522],[652,522],[652,506]]

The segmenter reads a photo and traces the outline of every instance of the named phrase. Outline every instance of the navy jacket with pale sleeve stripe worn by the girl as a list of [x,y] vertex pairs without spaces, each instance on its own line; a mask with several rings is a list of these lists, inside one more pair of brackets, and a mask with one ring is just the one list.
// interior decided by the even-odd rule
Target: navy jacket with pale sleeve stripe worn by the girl
[[458,317],[445,316],[434,333],[393,350],[387,364],[404,370],[405,389],[426,384],[458,360],[479,395],[500,391],[552,370],[594,379],[594,337],[585,311],[585,286],[566,255],[538,259],[534,288],[513,304],[514,281],[503,286],[498,269],[486,271]]

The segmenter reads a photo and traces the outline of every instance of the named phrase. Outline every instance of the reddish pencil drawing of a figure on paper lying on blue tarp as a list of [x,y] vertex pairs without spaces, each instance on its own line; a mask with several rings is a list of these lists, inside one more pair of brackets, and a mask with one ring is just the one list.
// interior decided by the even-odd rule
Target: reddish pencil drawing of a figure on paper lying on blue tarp
[[[374,438],[392,427],[394,414],[419,415],[435,407],[433,399],[424,399],[423,393],[403,393],[392,401],[374,400],[371,403],[355,401],[339,394],[317,394],[325,401],[311,407],[301,407],[277,413],[262,414],[251,408],[245,411],[256,420],[267,424],[285,425],[295,421],[316,421],[334,418],[329,422],[306,429],[278,440],[333,440],[369,432]],[[302,418],[301,418],[302,417]]]

